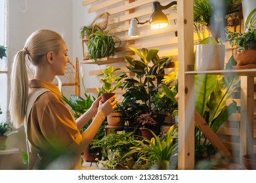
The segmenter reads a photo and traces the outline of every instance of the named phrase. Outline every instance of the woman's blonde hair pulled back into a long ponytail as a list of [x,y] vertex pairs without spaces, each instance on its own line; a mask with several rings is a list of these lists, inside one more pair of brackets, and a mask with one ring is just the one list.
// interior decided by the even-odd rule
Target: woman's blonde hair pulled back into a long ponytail
[[24,124],[26,114],[29,90],[26,61],[30,61],[33,65],[39,65],[45,54],[58,52],[62,41],[60,34],[47,29],[39,29],[28,37],[24,49],[14,57],[9,105],[11,122],[14,127],[18,128]]

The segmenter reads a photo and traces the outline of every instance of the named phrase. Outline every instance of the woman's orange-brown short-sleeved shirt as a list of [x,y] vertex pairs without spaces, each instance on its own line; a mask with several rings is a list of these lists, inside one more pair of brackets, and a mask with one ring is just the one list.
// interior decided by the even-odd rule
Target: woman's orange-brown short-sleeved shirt
[[[60,158],[62,154],[72,154],[70,159],[80,162],[78,166],[81,169],[81,152],[77,150],[82,136],[72,113],[62,101],[60,91],[51,82],[43,80],[32,79],[29,84],[30,93],[37,88],[50,90],[40,95],[33,104],[28,118],[29,141],[43,157]],[[67,163],[70,163],[70,159],[66,158]],[[70,165],[67,166],[70,167]],[[71,167],[77,169],[77,165]]]

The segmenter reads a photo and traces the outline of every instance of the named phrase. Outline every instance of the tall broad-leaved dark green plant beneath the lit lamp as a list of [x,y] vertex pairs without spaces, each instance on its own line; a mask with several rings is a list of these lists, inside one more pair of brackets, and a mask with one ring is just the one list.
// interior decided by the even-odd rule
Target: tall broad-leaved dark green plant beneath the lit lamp
[[165,75],[164,69],[171,62],[171,57],[159,58],[159,49],[142,48],[141,52],[136,48],[129,47],[139,59],[132,56],[125,56],[129,62],[129,72],[135,76],[125,78],[123,90],[124,101],[132,101],[136,106],[135,115],[142,113],[159,114],[157,108],[154,108],[154,95],[158,92],[161,80]]

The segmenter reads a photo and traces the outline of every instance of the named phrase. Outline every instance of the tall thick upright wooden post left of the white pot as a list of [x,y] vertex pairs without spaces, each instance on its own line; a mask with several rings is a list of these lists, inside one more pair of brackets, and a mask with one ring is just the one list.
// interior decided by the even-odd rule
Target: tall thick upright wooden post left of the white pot
[[[177,1],[179,61],[179,159],[178,169],[194,169],[193,1]],[[185,52],[186,51],[186,52]]]

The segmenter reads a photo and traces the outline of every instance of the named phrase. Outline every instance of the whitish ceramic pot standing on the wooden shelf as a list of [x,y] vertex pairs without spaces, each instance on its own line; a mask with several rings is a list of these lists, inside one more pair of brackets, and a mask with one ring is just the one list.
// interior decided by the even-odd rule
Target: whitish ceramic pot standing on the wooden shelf
[[223,44],[196,45],[196,71],[223,70],[225,46]]

